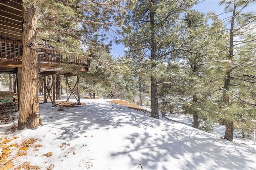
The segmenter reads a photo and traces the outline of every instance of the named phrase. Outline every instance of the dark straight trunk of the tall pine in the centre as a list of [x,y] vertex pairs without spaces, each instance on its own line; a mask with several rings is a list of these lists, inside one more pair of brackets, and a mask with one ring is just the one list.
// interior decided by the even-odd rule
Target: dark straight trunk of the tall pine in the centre
[[[152,7],[150,9],[150,29],[151,29],[151,35],[150,35],[150,55],[151,55],[151,61],[152,61],[152,70],[156,67],[156,40],[155,40],[155,13],[154,13],[154,1],[150,1],[152,3]],[[154,75],[151,75],[151,117],[154,117],[156,119],[159,119],[159,113],[158,113],[158,95],[157,95],[157,81]]]

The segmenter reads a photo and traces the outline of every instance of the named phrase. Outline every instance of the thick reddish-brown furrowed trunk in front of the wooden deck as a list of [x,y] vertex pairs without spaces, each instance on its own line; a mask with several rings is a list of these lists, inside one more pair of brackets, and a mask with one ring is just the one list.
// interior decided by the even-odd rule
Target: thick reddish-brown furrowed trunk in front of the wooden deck
[[42,125],[38,102],[38,51],[30,49],[30,46],[37,46],[36,29],[38,17],[34,1],[31,0],[28,2],[26,7],[23,6],[22,15],[22,83],[20,89],[18,130],[22,130],[25,127],[36,129],[38,125]]

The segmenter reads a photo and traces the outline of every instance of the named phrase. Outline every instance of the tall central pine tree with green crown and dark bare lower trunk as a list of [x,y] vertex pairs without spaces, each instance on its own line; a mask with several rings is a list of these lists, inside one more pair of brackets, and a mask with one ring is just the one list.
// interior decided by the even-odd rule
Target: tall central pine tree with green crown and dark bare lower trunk
[[151,116],[159,118],[158,77],[156,73],[162,61],[168,61],[174,51],[185,50],[178,41],[179,15],[190,8],[195,1],[138,1],[129,2],[134,8],[126,17],[127,36],[124,44],[131,51],[145,51],[144,57],[150,61],[148,72],[151,76]]

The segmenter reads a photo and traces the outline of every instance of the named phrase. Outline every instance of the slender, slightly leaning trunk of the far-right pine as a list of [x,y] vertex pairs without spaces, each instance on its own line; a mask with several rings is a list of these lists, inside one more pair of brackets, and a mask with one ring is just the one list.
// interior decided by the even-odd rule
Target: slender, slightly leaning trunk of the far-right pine
[[[233,59],[235,15],[236,15],[236,4],[234,2],[233,16],[232,16],[231,26],[230,26],[230,42],[229,42],[229,54],[228,54],[228,59],[230,61],[232,61]],[[232,71],[231,69],[227,69],[225,74],[224,89],[226,89],[226,91],[229,91],[231,71]],[[230,95],[226,91],[224,91],[223,93],[223,102],[226,103],[227,105],[230,105],[229,103]],[[225,121],[226,121],[226,131],[225,131],[224,138],[230,141],[233,141],[233,133],[234,133],[233,122],[232,120],[228,120],[228,119],[225,119]]]

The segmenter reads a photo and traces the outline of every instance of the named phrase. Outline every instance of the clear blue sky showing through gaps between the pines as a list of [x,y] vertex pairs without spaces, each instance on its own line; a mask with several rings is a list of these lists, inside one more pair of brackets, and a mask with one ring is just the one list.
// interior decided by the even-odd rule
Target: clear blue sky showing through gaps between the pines
[[[224,12],[224,5],[219,6],[220,0],[204,0],[201,1],[199,4],[196,4],[192,9],[195,9],[199,12],[208,13],[209,11],[214,12],[215,14],[221,14]],[[256,3],[252,4],[250,7],[247,8],[248,11],[256,11]],[[226,15],[227,16],[227,15]],[[221,18],[225,18],[225,15],[220,16]],[[122,44],[113,44],[111,55],[114,58],[122,57],[124,55],[124,45]]]

